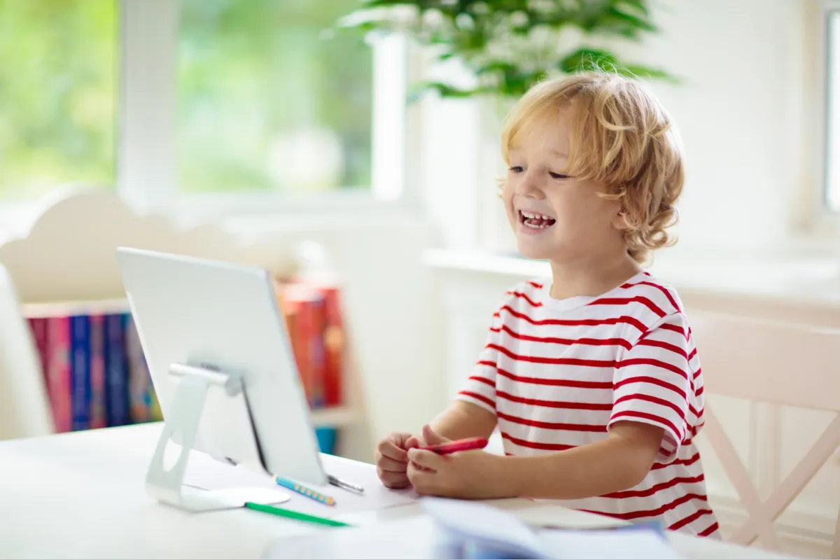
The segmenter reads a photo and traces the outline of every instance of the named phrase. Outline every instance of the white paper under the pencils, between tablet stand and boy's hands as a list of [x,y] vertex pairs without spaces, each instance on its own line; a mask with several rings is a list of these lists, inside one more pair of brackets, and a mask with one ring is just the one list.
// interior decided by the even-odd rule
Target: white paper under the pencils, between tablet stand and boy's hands
[[395,505],[411,504],[417,500],[417,493],[413,489],[391,490],[382,485],[376,476],[376,469],[371,464],[350,461],[349,459],[333,455],[321,455],[324,470],[339,479],[345,479],[353,484],[359,484],[365,489],[364,495],[357,495],[327,484],[312,486],[325,495],[335,498],[334,507],[323,505],[316,500],[286,490],[275,484],[274,480],[263,474],[255,473],[249,468],[234,467],[203,453],[193,453],[187,467],[184,484],[206,490],[234,488],[236,486],[265,486],[281,489],[291,495],[291,500],[282,507],[302,513],[321,517],[344,516],[357,511],[381,510]]

